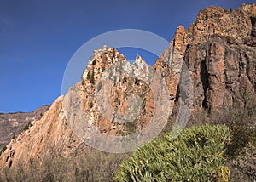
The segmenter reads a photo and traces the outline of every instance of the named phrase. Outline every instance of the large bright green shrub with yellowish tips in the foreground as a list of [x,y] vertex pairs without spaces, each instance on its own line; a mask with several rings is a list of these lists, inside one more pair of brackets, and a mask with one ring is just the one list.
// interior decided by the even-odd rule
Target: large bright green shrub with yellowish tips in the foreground
[[134,151],[120,165],[116,181],[228,181],[224,146],[230,139],[225,126],[185,128],[177,137],[165,134]]

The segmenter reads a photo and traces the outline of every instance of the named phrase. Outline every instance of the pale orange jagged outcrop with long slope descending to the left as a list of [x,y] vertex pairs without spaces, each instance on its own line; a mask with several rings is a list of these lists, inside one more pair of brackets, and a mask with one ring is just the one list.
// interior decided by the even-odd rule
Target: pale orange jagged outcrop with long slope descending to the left
[[[96,50],[82,74],[82,81],[55,100],[40,120],[31,122],[30,128],[11,140],[0,157],[0,166],[10,167],[20,160],[26,163],[30,158],[41,159],[47,155],[75,155],[86,149],[83,140],[93,138],[90,131],[94,128],[112,136],[143,131],[157,105],[153,90],[159,91],[162,82],[166,82],[160,73],[158,68],[149,68],[139,55],[130,65],[114,48],[104,46]],[[159,80],[152,81],[154,74],[159,75]],[[108,82],[105,76],[111,84],[105,84]],[[158,97],[156,93],[154,96]],[[167,110],[165,113],[170,114]]]

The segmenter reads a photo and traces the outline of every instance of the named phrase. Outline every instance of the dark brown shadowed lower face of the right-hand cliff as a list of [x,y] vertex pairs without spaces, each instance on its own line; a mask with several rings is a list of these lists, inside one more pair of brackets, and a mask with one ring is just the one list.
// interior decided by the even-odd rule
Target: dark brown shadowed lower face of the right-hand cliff
[[[191,45],[185,61],[195,82],[195,106],[218,110],[244,104],[243,97],[255,89],[255,47],[230,44],[230,37],[212,35],[205,43]],[[250,56],[248,56],[250,55]]]

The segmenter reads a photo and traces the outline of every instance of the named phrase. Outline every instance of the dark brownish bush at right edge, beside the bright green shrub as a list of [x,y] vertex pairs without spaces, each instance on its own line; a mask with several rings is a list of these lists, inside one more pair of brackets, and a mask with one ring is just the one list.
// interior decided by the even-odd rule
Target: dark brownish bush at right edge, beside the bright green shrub
[[230,159],[244,153],[248,144],[256,145],[256,94],[244,94],[244,105],[235,103],[230,108],[222,109],[218,117],[212,117],[212,123],[225,124],[232,134],[226,153]]

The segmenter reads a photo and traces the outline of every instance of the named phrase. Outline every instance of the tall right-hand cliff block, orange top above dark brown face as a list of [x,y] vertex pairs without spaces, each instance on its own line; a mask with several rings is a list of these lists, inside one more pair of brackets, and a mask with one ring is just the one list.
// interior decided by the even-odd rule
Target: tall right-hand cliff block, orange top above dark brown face
[[218,111],[238,101],[244,105],[253,94],[256,4],[242,4],[234,11],[203,9],[186,31],[184,60],[194,82],[195,107]]

